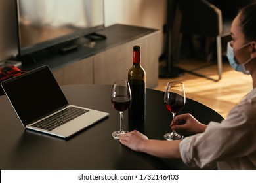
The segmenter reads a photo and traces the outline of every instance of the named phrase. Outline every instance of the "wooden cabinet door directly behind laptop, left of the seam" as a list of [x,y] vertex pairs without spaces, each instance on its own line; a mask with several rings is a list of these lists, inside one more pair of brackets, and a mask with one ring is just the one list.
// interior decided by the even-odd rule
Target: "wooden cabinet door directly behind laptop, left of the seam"
[[81,59],[53,71],[58,84],[93,84],[93,57]]

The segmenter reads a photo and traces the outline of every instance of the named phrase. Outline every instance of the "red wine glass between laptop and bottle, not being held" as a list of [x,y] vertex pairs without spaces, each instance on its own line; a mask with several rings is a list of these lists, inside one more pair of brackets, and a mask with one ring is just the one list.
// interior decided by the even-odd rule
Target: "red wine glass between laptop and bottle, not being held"
[[119,135],[123,133],[128,133],[128,131],[123,131],[123,111],[127,110],[131,104],[131,88],[129,82],[126,80],[117,80],[112,85],[111,91],[111,103],[120,114],[120,129],[119,131],[114,131],[112,137],[114,139],[119,139]]

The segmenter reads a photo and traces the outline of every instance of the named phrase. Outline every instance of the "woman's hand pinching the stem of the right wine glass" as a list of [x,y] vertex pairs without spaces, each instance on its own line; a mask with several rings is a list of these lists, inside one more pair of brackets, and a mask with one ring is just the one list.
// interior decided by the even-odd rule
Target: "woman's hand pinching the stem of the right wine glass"
[[207,125],[201,124],[191,114],[181,114],[174,118],[171,122],[171,129],[182,129],[190,133],[203,133]]

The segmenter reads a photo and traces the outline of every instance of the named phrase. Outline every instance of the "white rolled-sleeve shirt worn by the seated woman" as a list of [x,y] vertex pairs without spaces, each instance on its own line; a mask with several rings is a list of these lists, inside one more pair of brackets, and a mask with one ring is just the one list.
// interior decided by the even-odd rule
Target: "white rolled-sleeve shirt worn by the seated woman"
[[184,138],[180,143],[182,161],[218,169],[256,169],[256,88],[221,123],[210,122],[203,133]]

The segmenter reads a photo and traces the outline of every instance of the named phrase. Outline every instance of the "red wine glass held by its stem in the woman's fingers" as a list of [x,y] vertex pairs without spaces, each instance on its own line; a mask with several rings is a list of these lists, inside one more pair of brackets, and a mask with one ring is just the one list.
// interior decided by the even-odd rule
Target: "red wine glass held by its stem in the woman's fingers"
[[[186,103],[184,84],[182,82],[168,82],[164,101],[165,107],[173,114],[174,119],[175,114],[179,112]],[[164,137],[169,141],[184,138],[183,135],[177,133],[175,129],[173,129],[171,133],[166,133]]]

